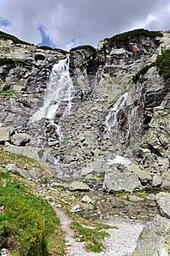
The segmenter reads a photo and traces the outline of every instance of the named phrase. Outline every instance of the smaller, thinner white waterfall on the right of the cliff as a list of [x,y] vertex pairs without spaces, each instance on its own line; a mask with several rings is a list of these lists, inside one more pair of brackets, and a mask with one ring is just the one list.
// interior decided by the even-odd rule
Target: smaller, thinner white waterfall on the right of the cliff
[[113,105],[113,108],[109,111],[107,115],[105,126],[108,133],[111,133],[112,129],[117,129],[117,113],[119,110],[123,109],[125,101],[128,99],[128,92],[125,92]]

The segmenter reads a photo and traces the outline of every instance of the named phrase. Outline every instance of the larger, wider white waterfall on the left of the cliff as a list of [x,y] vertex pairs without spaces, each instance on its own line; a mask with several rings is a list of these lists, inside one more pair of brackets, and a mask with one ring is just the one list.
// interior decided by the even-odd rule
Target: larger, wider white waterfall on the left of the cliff
[[[42,108],[36,111],[30,118],[30,123],[39,121],[42,118],[48,118],[51,124],[55,124],[54,118],[57,111],[62,113],[69,112],[72,108],[72,99],[74,90],[72,80],[69,76],[69,57],[62,59],[58,64],[54,64],[50,74],[47,89],[45,91],[44,104]],[[58,129],[57,124],[55,126]]]

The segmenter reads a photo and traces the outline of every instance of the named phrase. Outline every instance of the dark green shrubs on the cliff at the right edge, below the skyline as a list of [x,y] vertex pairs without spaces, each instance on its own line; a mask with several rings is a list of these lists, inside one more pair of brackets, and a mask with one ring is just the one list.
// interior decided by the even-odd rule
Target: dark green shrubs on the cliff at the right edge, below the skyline
[[133,82],[137,83],[139,80],[141,83],[144,82],[142,75],[144,75],[150,67],[158,67],[159,75],[162,75],[165,79],[170,78],[170,50],[166,50],[162,55],[159,55],[152,64],[142,67],[132,78]]

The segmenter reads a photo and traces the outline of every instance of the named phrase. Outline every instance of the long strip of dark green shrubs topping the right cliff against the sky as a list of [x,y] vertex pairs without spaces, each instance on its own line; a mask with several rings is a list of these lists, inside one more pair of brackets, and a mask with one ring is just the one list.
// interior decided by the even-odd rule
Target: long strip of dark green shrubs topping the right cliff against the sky
[[116,34],[113,37],[109,38],[110,41],[125,41],[129,37],[139,37],[139,36],[144,36],[144,37],[150,37],[150,38],[155,38],[155,37],[163,37],[163,34],[160,31],[148,31],[146,29],[134,29],[125,33],[121,34]]

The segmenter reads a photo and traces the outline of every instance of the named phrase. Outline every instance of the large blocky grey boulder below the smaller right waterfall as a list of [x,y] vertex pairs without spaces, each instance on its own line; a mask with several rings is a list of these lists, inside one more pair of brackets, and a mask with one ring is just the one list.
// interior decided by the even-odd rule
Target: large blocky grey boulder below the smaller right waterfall
[[108,172],[104,176],[103,189],[107,192],[125,190],[132,192],[141,186],[139,178],[135,173],[112,173]]

